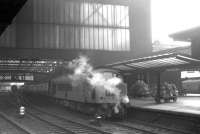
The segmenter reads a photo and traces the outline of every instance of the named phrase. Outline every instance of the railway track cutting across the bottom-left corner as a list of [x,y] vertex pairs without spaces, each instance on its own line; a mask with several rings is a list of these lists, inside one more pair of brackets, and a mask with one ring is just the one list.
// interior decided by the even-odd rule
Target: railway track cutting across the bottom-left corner
[[0,112],[0,134],[33,134],[33,132]]

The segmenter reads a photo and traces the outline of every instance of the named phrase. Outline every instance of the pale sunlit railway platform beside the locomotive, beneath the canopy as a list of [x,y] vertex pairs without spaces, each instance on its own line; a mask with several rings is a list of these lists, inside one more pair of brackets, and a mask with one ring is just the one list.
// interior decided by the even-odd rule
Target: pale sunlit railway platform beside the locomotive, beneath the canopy
[[156,104],[154,98],[130,99],[131,107],[200,117],[200,96],[178,97],[177,102]]

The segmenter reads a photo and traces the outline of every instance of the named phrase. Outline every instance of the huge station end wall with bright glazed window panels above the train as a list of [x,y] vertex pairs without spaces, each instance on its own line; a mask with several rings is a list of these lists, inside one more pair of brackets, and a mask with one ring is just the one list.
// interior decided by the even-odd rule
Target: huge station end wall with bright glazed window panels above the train
[[27,0],[0,37],[1,57],[93,65],[152,52],[150,0]]

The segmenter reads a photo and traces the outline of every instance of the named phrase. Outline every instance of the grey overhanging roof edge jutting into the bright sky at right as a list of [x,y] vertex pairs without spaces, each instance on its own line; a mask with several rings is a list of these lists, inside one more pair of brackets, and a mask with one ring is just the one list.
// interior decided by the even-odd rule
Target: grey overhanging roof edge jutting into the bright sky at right
[[178,41],[191,41],[192,38],[199,37],[199,35],[200,35],[200,26],[171,34],[169,35],[169,37]]

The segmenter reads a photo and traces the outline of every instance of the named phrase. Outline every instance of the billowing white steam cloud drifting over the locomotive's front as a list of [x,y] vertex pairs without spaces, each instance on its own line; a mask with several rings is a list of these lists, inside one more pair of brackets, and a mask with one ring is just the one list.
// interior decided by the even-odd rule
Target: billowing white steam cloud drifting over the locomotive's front
[[[73,74],[69,75],[73,85],[80,84],[87,81],[92,87],[97,90],[105,92],[107,90],[116,97],[115,112],[118,113],[118,106],[120,105],[120,92],[118,85],[122,80],[118,77],[107,78],[102,73],[93,70],[93,67],[88,63],[88,58],[79,56],[68,64],[68,68],[73,70]],[[103,88],[98,88],[103,87]]]

